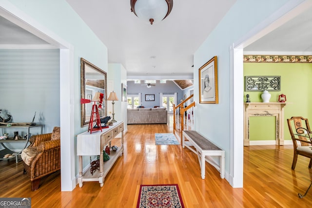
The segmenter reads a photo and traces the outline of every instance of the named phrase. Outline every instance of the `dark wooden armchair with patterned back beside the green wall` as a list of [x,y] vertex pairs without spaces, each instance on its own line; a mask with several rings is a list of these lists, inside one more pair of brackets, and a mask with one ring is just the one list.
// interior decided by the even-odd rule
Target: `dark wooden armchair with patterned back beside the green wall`
[[[302,123],[305,125],[302,125]],[[292,170],[296,167],[298,154],[310,158],[309,168],[312,167],[312,140],[309,121],[303,117],[291,117],[287,119],[289,132],[292,136],[293,143],[293,160]],[[293,123],[293,127],[292,127]],[[293,132],[295,131],[295,133]],[[302,134],[302,135],[299,135]],[[297,141],[300,141],[301,146],[297,145]]]

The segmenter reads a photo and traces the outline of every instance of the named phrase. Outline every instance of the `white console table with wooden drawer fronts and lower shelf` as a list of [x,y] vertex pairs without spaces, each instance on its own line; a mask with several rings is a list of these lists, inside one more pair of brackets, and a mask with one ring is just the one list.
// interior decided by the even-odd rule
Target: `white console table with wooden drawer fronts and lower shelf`
[[[83,132],[77,136],[77,155],[79,156],[79,187],[82,187],[84,181],[98,181],[100,187],[103,187],[104,178],[108,171],[111,170],[118,156],[123,153],[123,121],[117,121],[113,126],[102,129],[97,132]],[[103,150],[105,145],[109,144],[111,148],[112,139],[121,132],[121,146],[118,147],[117,151],[110,151],[110,159],[103,162]],[[90,168],[86,170],[85,174],[82,174],[82,156],[83,155],[99,155],[99,171],[95,171],[91,175]]]

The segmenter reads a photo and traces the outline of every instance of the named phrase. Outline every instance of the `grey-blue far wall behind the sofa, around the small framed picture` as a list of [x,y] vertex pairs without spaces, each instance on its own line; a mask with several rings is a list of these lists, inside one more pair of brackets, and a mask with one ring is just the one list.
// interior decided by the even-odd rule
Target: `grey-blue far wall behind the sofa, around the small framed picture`
[[[134,81],[128,81],[128,95],[141,93],[142,106],[146,108],[153,108],[154,106],[160,106],[159,93],[163,94],[175,94],[177,93],[177,104],[183,99],[183,91],[171,80],[167,80],[166,83],[159,83],[156,80],[156,86],[147,88],[144,84],[144,80],[141,80],[140,84],[135,84]],[[145,101],[145,95],[155,95],[155,101]]]

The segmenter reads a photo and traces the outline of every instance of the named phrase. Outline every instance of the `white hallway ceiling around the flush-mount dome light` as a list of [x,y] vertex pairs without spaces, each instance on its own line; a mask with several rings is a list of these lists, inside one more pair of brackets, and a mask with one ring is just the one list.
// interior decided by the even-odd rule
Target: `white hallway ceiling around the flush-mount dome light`
[[174,0],[170,15],[153,25],[131,12],[130,0],[67,2],[107,46],[109,63],[121,63],[128,76],[193,77],[193,54],[235,0]]

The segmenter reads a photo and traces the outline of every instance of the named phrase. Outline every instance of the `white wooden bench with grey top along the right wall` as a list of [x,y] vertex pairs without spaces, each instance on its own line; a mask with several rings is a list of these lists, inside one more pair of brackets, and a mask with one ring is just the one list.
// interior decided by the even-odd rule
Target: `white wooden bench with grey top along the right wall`
[[[188,141],[185,141],[185,138]],[[196,151],[191,148],[191,146],[194,146]],[[205,161],[213,165],[215,169],[220,172],[221,178],[224,178],[224,150],[217,147],[214,143],[196,131],[182,132],[182,147],[187,147],[197,154],[202,179],[205,179]],[[220,165],[217,165],[214,161],[209,160],[206,156],[220,156]]]

